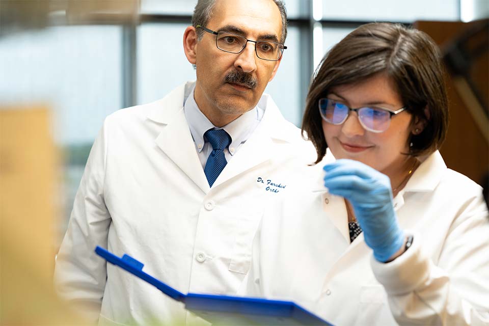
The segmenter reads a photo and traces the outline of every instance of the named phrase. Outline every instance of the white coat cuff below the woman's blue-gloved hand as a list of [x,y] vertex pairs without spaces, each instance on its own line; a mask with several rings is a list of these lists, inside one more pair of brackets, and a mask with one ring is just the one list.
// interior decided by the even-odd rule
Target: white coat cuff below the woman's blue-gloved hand
[[422,252],[421,235],[407,230],[405,234],[413,234],[413,244],[402,255],[391,262],[377,261],[373,255],[370,265],[377,281],[388,294],[403,294],[415,290],[429,277],[429,259]]

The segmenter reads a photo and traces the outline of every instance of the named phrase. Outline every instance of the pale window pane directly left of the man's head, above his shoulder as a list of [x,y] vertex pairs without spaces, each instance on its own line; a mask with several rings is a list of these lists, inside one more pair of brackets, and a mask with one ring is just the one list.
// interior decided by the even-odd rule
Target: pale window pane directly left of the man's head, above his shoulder
[[187,80],[195,80],[194,67],[183,51],[187,26],[146,23],[138,28],[138,104],[160,99]]

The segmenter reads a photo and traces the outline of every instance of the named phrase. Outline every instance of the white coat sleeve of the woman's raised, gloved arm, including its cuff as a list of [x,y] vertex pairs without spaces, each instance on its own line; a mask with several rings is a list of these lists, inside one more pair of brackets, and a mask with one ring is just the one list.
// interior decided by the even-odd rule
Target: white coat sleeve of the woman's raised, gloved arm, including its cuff
[[371,257],[399,324],[489,325],[488,218],[482,196],[461,209],[436,264],[416,233],[413,246],[394,261]]

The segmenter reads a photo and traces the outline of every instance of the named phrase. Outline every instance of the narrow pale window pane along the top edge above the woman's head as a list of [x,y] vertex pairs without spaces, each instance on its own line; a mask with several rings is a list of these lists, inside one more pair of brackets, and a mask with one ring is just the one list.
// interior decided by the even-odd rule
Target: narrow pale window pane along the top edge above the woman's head
[[360,21],[458,20],[459,0],[322,1],[323,19]]

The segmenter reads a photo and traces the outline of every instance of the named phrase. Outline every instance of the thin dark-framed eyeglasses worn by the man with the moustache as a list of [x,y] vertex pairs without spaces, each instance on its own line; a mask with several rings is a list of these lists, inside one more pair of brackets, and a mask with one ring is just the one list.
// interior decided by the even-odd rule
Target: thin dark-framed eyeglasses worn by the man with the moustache
[[255,53],[258,58],[268,61],[279,61],[284,49],[287,48],[287,46],[278,42],[252,41],[241,35],[229,32],[214,32],[201,25],[197,25],[197,28],[201,28],[207,33],[214,34],[215,45],[218,49],[229,53],[240,53],[244,47],[246,47],[248,42],[253,42],[255,43]]

